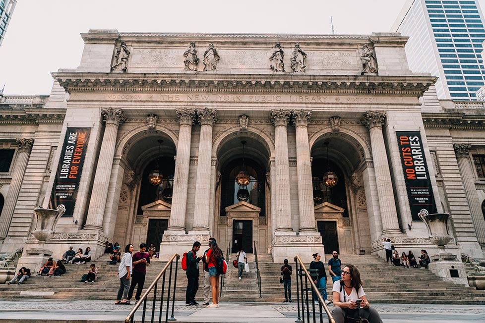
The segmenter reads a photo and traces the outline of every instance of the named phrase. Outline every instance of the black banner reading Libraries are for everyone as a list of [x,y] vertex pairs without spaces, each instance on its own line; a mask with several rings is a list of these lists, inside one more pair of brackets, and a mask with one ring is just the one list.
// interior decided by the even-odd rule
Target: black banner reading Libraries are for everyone
[[74,211],[90,132],[91,128],[67,128],[65,133],[50,205],[56,209],[63,204],[65,213],[62,216],[72,216]]

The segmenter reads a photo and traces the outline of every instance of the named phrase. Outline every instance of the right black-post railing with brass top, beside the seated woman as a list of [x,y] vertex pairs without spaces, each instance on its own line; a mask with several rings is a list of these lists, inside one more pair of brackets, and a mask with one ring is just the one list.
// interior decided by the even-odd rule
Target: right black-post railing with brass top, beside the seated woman
[[[322,294],[320,293],[320,289],[318,289],[313,282],[313,278],[310,275],[308,269],[306,269],[305,265],[302,262],[300,256],[295,256],[295,267],[297,269],[297,307],[298,307],[298,319],[295,322],[305,322],[305,314],[306,314],[306,322],[310,322],[310,304],[308,293],[311,294],[311,317],[313,319],[313,323],[316,322],[316,317],[319,316],[320,323],[323,323],[323,312],[322,309],[325,311],[328,317],[328,322],[335,323],[330,310],[328,309],[327,305],[323,300]],[[311,270],[311,269],[310,269]],[[300,281],[299,281],[300,280]],[[303,288],[303,280],[304,280],[304,288]],[[308,286],[309,285],[309,286]],[[316,296],[316,299],[315,299]],[[318,309],[315,309],[315,301],[318,301]]]

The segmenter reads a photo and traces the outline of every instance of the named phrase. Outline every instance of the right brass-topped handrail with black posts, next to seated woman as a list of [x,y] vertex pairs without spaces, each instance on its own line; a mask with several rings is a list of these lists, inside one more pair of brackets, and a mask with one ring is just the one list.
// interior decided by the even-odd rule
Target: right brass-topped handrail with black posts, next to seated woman
[[[319,310],[320,310],[320,322],[323,322],[323,318],[321,315],[321,308],[325,310],[325,313],[328,316],[328,321],[330,323],[335,323],[335,319],[333,318],[332,314],[330,313],[330,310],[328,309],[327,305],[325,305],[325,302],[323,300],[322,294],[320,293],[320,290],[316,287],[315,283],[313,282],[313,278],[310,276],[310,273],[306,269],[305,265],[303,264],[302,259],[300,256],[296,255],[295,258],[295,267],[297,269],[297,303],[298,303],[298,319],[295,322],[304,322],[304,301],[303,301],[303,276],[305,277],[305,290],[308,295],[308,288],[306,288],[308,281],[310,282],[310,287],[313,290],[313,294],[316,295],[319,303]],[[299,275],[299,269],[298,266],[300,265],[300,271],[303,271],[302,274]],[[300,285],[298,284],[298,277],[300,276]],[[302,294],[302,314],[303,314],[303,321],[300,319],[300,292]],[[315,313],[315,303],[312,302],[312,308],[313,308],[313,313]],[[307,311],[307,322],[309,322],[309,309],[308,309],[308,297],[306,297],[306,311]],[[313,315],[313,322],[315,322],[315,315]]]

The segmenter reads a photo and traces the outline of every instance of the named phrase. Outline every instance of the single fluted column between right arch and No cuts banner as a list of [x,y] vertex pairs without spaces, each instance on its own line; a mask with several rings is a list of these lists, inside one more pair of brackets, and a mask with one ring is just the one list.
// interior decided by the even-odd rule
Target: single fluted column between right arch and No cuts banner
[[391,183],[389,162],[387,161],[386,145],[382,134],[382,125],[386,117],[385,111],[365,112],[362,123],[369,128],[372,161],[374,162],[377,196],[382,218],[382,234],[401,234],[397,219],[394,193]]

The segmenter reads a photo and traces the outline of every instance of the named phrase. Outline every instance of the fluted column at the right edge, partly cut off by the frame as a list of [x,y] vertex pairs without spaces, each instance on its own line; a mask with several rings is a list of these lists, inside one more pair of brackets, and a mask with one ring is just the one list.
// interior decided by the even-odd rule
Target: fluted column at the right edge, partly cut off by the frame
[[455,149],[456,161],[458,162],[458,169],[465,188],[468,206],[472,215],[473,226],[477,234],[478,243],[485,250],[485,219],[482,214],[482,206],[480,205],[477,188],[475,187],[475,176],[473,173],[473,166],[470,163],[469,150],[470,144],[453,144]]

